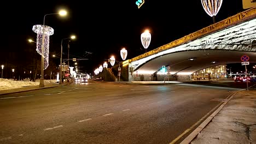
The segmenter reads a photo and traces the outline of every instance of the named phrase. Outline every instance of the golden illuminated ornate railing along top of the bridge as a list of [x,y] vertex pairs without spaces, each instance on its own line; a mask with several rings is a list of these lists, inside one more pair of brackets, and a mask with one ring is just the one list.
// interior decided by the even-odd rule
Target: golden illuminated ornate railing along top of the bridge
[[176,47],[178,45],[182,45],[184,43],[187,43],[188,41],[195,40],[197,38],[203,37],[204,35],[208,35],[210,33],[214,33],[216,31],[219,31],[221,29],[224,29],[226,27],[237,25],[238,23],[242,23],[251,19],[254,19],[256,17],[256,8],[251,8],[246,11],[243,11],[241,13],[238,13],[234,16],[228,17],[228,19],[222,20],[220,22],[214,23],[211,26],[205,27],[200,29],[199,31],[196,31],[194,33],[191,33],[189,35],[185,35],[185,37],[177,39],[172,41],[171,43],[168,43],[166,45],[160,46],[152,51],[149,51],[147,53],[144,53],[142,55],[139,55],[135,58],[131,59],[132,61],[137,61],[138,59],[142,59],[144,57],[148,57],[151,55],[154,55],[158,52],[165,51],[168,49],[171,49],[172,47]]

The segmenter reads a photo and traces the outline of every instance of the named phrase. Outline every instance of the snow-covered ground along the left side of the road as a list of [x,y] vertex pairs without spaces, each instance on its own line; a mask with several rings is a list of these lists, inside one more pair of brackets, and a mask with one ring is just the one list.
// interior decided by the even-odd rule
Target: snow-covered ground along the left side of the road
[[[56,80],[44,80],[44,83],[56,83]],[[36,82],[30,80],[14,81],[12,79],[0,79],[0,91],[29,86],[39,86],[39,79]]]

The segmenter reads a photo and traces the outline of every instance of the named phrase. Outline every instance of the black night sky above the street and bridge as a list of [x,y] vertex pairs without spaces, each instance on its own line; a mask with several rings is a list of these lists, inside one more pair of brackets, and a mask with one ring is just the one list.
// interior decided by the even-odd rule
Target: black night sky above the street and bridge
[[[61,39],[75,34],[77,39],[70,42],[70,58],[88,58],[79,61],[79,65],[88,73],[111,55],[121,61],[122,47],[128,51],[127,59],[144,53],[140,35],[145,29],[149,29],[152,34],[149,51],[213,23],[212,17],[205,13],[199,0],[145,0],[140,9],[135,2],[136,0],[5,2],[2,4],[1,25],[4,25],[2,32],[7,34],[8,40],[4,38],[2,55],[13,52],[20,57],[10,59],[9,63],[29,63],[20,59],[30,57],[28,49],[36,49],[36,45],[27,42],[28,38],[36,40],[33,25],[42,25],[45,14],[57,13],[60,8],[68,10],[67,17],[49,15],[45,19],[45,25],[55,30],[54,35],[50,36],[50,55],[60,55]],[[216,21],[241,11],[242,0],[224,0]],[[92,54],[88,55],[86,52]],[[63,53],[67,53],[67,40],[63,42]],[[64,54],[63,58],[67,58],[67,55]]]

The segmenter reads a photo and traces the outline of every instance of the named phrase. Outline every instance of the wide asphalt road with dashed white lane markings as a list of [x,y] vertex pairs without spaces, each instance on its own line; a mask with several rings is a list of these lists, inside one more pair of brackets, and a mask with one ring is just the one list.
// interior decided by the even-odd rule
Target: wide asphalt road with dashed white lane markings
[[1,95],[0,143],[179,142],[237,90],[89,82]]

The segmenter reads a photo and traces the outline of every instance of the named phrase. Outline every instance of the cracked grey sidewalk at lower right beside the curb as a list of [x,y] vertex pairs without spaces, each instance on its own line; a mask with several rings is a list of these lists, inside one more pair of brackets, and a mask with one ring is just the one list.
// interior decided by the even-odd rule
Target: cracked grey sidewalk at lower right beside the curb
[[256,143],[256,90],[233,95],[212,121],[201,129],[193,131],[196,135],[199,133],[195,139],[187,139],[193,135],[191,133],[182,143]]

